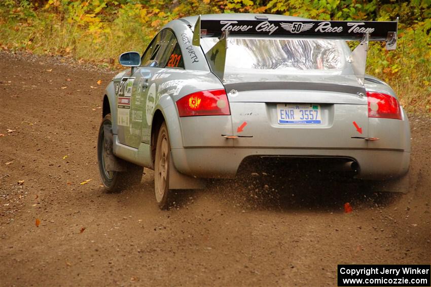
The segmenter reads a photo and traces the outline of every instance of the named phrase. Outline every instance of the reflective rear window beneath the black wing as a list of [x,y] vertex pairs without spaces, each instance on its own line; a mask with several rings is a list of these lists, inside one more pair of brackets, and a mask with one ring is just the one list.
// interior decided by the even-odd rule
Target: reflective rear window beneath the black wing
[[[201,40],[205,53],[219,41],[215,37]],[[344,64],[341,45],[340,40],[231,37],[228,38],[225,71],[341,69]]]

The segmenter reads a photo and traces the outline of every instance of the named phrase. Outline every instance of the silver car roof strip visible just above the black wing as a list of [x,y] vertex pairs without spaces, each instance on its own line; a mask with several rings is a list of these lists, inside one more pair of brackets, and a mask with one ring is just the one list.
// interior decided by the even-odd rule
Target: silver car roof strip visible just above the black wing
[[[228,14],[207,14],[200,15],[201,20],[270,20],[270,21],[295,21],[295,20],[310,20],[302,17],[285,16],[277,14],[255,14],[255,13],[228,13]],[[256,16],[266,16],[268,19],[256,19]],[[181,18],[194,25],[198,19],[198,15]]]

